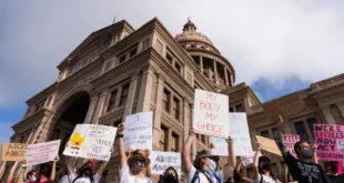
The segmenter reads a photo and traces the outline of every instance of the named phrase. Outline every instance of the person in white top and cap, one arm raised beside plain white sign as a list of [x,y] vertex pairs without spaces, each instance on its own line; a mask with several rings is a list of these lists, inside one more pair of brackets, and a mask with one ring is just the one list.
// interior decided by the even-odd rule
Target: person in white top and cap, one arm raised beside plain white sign
[[145,176],[144,169],[150,164],[148,151],[135,150],[127,157],[124,150],[124,123],[118,126],[119,153],[120,153],[120,182],[121,183],[152,183]]

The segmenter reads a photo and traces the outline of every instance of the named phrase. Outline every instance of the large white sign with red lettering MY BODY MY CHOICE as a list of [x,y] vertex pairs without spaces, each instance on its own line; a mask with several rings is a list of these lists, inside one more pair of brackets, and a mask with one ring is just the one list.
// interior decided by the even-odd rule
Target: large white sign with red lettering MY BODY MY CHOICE
[[227,138],[229,96],[195,90],[192,126],[195,133]]

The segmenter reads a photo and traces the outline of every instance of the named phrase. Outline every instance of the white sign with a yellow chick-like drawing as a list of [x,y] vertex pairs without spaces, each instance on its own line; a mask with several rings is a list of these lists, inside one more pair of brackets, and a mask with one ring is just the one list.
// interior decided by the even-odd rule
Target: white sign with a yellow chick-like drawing
[[109,161],[117,128],[98,124],[77,124],[64,155]]

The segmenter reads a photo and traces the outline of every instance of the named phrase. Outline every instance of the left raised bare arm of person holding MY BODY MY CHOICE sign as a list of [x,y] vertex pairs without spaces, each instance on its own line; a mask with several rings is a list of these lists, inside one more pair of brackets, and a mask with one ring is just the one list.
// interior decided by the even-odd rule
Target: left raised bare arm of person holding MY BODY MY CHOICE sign
[[191,153],[191,145],[194,139],[194,130],[193,128],[190,130],[189,132],[189,138],[183,146],[182,150],[182,167],[184,170],[184,173],[190,173],[191,169],[192,169],[192,163],[190,160],[190,153]]

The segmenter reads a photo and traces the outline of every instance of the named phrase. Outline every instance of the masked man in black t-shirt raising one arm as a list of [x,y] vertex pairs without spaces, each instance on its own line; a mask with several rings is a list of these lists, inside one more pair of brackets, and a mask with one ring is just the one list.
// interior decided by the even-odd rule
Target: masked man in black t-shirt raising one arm
[[281,154],[293,176],[299,183],[331,183],[331,180],[324,173],[323,169],[312,162],[314,152],[306,141],[299,141],[294,145],[294,151],[297,155],[295,159],[284,146],[282,141],[283,119],[280,116],[279,130],[276,135],[276,144],[280,148]]

